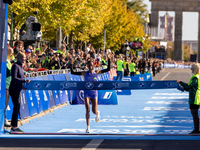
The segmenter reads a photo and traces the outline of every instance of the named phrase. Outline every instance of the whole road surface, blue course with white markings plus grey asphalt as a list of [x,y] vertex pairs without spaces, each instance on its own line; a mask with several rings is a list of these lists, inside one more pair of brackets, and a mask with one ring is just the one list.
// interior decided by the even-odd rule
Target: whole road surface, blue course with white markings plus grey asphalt
[[[164,68],[153,80],[189,82],[190,77],[190,69]],[[188,135],[193,122],[187,101],[188,93],[176,89],[132,91],[132,96],[118,96],[117,106],[98,106],[101,120],[96,123],[91,114],[89,135],[85,135],[84,106],[65,106],[21,126],[25,133],[38,134],[4,135],[0,150],[198,149],[200,136]]]

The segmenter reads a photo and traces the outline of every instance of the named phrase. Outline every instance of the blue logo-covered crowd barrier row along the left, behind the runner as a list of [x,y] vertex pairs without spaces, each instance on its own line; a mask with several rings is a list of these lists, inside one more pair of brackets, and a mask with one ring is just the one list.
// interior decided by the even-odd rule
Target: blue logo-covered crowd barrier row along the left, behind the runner
[[[42,75],[42,74],[41,74]],[[83,76],[65,74],[50,74],[40,77],[27,78],[32,81],[84,81]],[[99,81],[108,81],[110,73],[103,73],[98,75]],[[40,86],[39,83],[35,86]],[[48,84],[46,85],[48,86]],[[83,90],[27,90],[21,91],[21,107],[20,119],[30,117],[38,114],[49,108],[69,102],[70,104],[84,104]],[[98,91],[98,104],[100,105],[117,105],[117,94],[115,90],[100,90]],[[11,120],[13,104],[10,98],[9,105],[6,111],[7,120]]]

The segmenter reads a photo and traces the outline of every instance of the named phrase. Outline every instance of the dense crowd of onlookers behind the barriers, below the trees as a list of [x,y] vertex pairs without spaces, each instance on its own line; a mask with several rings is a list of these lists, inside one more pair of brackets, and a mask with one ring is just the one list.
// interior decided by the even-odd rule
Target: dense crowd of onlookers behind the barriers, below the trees
[[[9,45],[8,45],[9,46]],[[95,67],[106,67],[108,57],[111,59],[111,68],[117,68],[116,61],[122,58],[123,61],[135,63],[136,71],[145,73],[152,71],[153,75],[161,70],[162,63],[183,63],[173,62],[159,59],[138,59],[135,55],[125,57],[124,54],[115,53],[110,49],[103,51],[102,49],[94,49],[91,43],[88,44],[86,50],[68,48],[66,43],[61,45],[60,50],[53,50],[46,44],[41,48],[36,48],[34,44],[24,47],[23,41],[16,41],[13,47],[14,55],[11,58],[11,63],[16,62],[16,55],[18,52],[23,52],[26,55],[26,63],[23,64],[23,69],[26,72],[38,72],[48,70],[69,69],[73,60],[73,67],[82,70],[87,69],[86,62],[91,60],[94,62]],[[129,67],[125,66],[125,76],[130,74]]]

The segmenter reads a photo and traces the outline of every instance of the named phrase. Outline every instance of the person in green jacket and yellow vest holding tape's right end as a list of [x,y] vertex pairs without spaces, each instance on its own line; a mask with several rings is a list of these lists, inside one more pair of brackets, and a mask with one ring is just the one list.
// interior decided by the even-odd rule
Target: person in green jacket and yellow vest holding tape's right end
[[185,91],[189,91],[189,105],[190,105],[190,112],[193,117],[194,122],[194,130],[189,134],[198,134],[199,131],[199,115],[198,109],[200,105],[200,66],[198,63],[192,65],[192,73],[194,74],[189,83],[184,83],[182,81],[177,80],[176,82],[179,83]]

